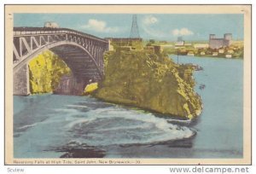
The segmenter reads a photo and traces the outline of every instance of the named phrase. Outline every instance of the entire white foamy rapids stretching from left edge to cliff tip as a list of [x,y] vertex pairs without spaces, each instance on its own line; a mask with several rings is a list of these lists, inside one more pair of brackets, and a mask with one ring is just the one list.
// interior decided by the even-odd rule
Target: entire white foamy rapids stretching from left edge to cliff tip
[[[20,127],[22,129],[27,126],[31,129],[16,138],[15,142],[26,144],[26,140],[30,138],[32,142],[29,143],[37,148],[20,147],[19,153],[30,149],[33,155],[47,147],[63,145],[71,140],[97,147],[155,144],[180,140],[195,134],[188,127],[168,123],[167,119],[155,117],[152,113],[138,112],[115,105],[89,111],[79,110],[87,106],[75,104],[64,106],[54,108],[54,112],[49,113],[49,118],[43,122]],[[37,138],[31,139],[31,137]]]

